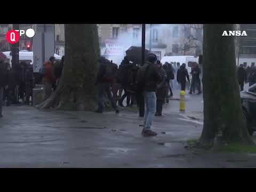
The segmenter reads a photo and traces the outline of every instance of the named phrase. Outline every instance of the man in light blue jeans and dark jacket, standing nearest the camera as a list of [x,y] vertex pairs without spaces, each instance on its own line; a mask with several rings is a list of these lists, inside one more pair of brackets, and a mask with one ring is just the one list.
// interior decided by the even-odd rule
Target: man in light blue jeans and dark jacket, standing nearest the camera
[[157,57],[150,53],[147,61],[138,71],[138,85],[144,92],[145,99],[145,119],[144,128],[141,132],[143,137],[156,136],[157,133],[151,130],[153,118],[156,113],[156,88],[157,84],[162,81],[162,76],[155,65]]

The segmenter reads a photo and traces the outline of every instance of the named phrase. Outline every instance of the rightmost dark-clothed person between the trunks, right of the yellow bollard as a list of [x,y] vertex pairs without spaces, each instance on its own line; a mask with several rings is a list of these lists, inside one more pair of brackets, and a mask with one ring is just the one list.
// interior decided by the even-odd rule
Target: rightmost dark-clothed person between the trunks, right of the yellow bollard
[[201,69],[197,65],[196,62],[193,63],[193,67],[191,68],[191,73],[192,79],[191,79],[191,85],[190,85],[190,91],[189,94],[192,94],[192,91],[195,93],[195,89],[197,87],[197,94],[201,94],[201,80],[200,80],[200,74],[201,74]]

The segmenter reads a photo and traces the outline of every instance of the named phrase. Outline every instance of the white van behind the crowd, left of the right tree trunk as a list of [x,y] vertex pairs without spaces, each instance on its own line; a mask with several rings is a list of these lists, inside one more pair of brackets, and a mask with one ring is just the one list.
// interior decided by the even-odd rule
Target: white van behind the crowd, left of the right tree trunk
[[191,63],[197,62],[198,63],[199,57],[194,57],[194,56],[165,56],[162,58],[161,62],[164,65],[165,62],[173,62],[174,65],[177,66],[177,63],[182,65],[182,63],[186,63],[186,68],[188,69],[188,73],[191,72]]

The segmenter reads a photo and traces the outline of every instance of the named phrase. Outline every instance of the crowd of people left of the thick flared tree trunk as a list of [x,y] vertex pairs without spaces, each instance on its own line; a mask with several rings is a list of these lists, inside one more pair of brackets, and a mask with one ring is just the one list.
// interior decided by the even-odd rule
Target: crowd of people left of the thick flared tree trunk
[[[44,85],[44,100],[55,90],[63,69],[64,57],[57,62],[54,57],[43,65],[44,73],[41,81]],[[40,74],[40,73],[39,73]],[[33,65],[20,61],[18,65],[10,66],[9,62],[0,61],[0,117],[2,106],[32,105],[35,77]]]

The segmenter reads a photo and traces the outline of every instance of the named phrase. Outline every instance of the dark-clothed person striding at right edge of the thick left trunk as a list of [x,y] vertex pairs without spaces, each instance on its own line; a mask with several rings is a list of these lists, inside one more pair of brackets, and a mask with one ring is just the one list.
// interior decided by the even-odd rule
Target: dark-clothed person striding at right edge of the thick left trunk
[[115,69],[113,69],[113,65],[103,57],[99,59],[99,64],[99,71],[95,81],[95,85],[98,85],[98,109],[95,112],[103,113],[103,98],[107,95],[111,106],[115,109],[116,113],[119,113],[116,102],[111,95],[111,82],[113,82],[113,78],[115,78]]

